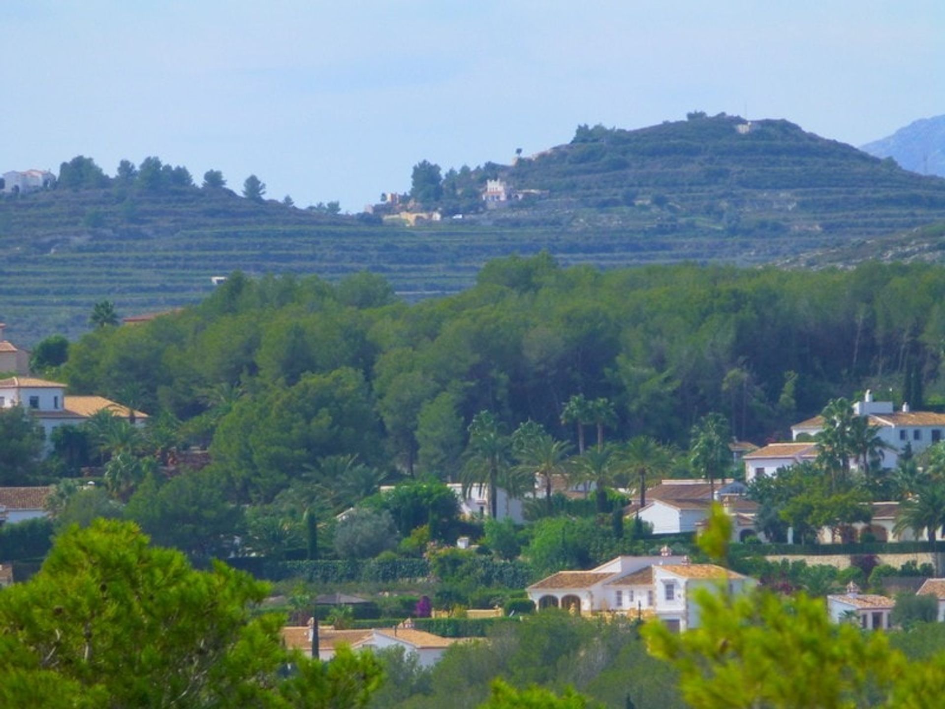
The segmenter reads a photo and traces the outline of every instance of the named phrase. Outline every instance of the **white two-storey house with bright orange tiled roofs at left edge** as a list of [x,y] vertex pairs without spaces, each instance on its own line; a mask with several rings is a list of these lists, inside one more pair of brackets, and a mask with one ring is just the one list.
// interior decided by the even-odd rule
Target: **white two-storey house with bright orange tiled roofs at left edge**
[[66,396],[65,385],[35,377],[13,376],[0,379],[0,408],[24,406],[43,426],[45,452],[52,450],[50,435],[62,425],[77,425],[99,411],[143,425],[147,414],[130,409],[102,396]]

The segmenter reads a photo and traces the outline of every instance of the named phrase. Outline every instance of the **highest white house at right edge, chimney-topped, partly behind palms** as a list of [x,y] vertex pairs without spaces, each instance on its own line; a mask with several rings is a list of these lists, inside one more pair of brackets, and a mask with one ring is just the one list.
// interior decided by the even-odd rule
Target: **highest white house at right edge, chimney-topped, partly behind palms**
[[[908,404],[903,404],[902,410],[896,411],[891,401],[873,401],[873,394],[869,390],[863,401],[853,404],[853,413],[867,417],[870,425],[879,428],[877,436],[887,446],[882,459],[885,469],[896,467],[906,443],[912,447],[913,453],[921,453],[941,441],[942,432],[945,431],[945,414],[912,411]],[[802,434],[815,436],[823,424],[822,416],[794,424],[791,426],[794,440],[798,441]]]

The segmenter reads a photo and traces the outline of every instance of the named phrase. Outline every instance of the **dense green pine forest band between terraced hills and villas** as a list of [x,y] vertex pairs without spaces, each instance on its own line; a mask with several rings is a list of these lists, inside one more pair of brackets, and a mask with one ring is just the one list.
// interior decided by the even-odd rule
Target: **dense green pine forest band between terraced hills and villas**
[[[216,455],[248,475],[291,469],[284,451],[394,456],[449,475],[476,412],[573,436],[561,414],[578,393],[614,403],[619,438],[685,443],[718,411],[735,436],[763,442],[833,396],[871,388],[901,401],[906,378],[937,401],[943,276],[924,265],[600,271],[540,254],[407,305],[369,273],[338,285],[234,273],[196,307],[82,337],[58,374],[75,393],[133,392],[152,415],[203,421]],[[239,395],[221,408],[224,390]],[[279,440],[283,458],[250,453],[254,437]]]

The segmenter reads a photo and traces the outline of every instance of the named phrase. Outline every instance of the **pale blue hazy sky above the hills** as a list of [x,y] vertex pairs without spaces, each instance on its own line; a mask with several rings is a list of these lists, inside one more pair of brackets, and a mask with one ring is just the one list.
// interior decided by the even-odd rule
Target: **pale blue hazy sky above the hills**
[[945,113],[942,0],[0,0],[0,46],[0,172],[156,155],[351,212],[579,124]]

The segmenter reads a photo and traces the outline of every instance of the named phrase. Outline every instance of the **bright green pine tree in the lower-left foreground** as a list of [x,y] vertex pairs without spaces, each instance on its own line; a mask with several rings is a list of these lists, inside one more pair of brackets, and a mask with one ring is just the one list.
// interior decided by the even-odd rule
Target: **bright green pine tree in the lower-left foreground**
[[250,618],[266,592],[221,563],[193,570],[133,525],[73,527],[36,576],[0,592],[0,705],[364,706],[373,658],[286,650],[277,616]]

